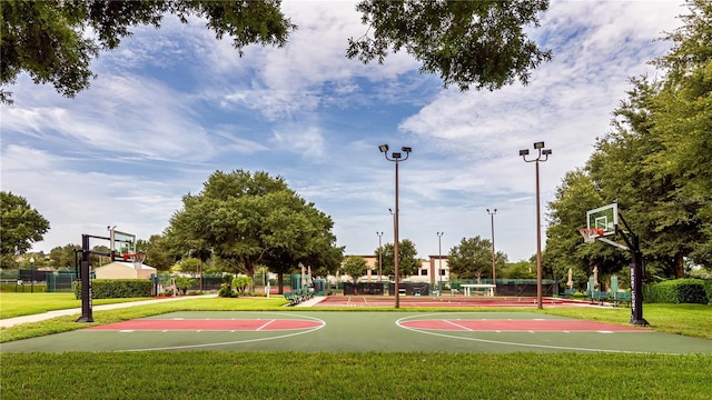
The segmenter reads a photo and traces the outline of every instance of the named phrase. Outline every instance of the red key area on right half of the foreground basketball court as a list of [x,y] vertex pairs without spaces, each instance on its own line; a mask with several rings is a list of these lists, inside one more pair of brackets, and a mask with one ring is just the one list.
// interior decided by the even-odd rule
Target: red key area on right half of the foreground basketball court
[[645,332],[634,327],[582,320],[411,320],[399,326],[409,329],[468,332]]

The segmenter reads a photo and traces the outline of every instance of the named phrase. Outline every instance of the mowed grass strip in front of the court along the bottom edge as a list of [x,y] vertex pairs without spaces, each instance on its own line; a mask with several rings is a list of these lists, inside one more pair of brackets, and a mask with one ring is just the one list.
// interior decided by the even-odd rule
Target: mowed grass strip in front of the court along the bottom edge
[[8,353],[2,399],[709,399],[711,362],[582,353]]

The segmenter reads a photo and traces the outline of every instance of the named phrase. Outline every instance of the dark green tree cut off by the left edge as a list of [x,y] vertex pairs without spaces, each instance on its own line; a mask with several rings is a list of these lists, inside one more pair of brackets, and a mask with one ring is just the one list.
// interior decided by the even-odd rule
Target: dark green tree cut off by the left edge
[[0,216],[2,266],[13,266],[16,254],[26,253],[32,243],[42,240],[49,221],[31,208],[27,199],[6,191],[0,191]]

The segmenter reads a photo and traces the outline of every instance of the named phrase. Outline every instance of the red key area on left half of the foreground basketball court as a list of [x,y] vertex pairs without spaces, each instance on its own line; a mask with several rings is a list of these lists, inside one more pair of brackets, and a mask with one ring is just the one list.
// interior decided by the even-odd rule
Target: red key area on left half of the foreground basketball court
[[144,319],[107,323],[86,330],[103,331],[283,331],[312,329],[323,326],[320,321],[290,319],[236,319],[236,320],[191,320],[191,319]]

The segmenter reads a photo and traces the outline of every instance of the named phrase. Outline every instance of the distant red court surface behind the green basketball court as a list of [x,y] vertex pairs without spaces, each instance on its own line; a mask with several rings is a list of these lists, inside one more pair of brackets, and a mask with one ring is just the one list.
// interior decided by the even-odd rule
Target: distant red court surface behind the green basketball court
[[[333,296],[314,307],[393,307],[394,297],[380,296]],[[536,298],[531,297],[464,297],[464,296],[400,296],[400,307],[536,307]],[[543,298],[544,307],[591,307],[580,300]]]

